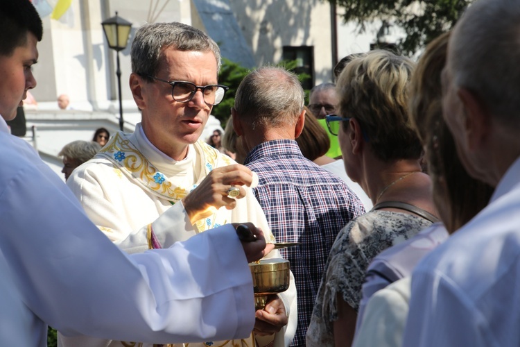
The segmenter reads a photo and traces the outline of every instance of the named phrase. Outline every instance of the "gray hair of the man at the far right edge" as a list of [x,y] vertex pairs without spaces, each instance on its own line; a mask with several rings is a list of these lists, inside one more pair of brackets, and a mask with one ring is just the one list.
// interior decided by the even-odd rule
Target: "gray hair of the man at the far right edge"
[[476,93],[501,122],[517,125],[519,18],[518,0],[476,1],[456,25],[448,48],[453,83]]

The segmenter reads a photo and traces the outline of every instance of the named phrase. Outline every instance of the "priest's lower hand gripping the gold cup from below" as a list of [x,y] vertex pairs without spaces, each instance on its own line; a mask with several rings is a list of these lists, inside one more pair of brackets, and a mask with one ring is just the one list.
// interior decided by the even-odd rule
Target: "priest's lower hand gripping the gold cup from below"
[[258,310],[254,322],[253,332],[259,336],[266,336],[279,332],[288,323],[288,316],[284,302],[277,295],[268,296],[268,303],[263,310]]

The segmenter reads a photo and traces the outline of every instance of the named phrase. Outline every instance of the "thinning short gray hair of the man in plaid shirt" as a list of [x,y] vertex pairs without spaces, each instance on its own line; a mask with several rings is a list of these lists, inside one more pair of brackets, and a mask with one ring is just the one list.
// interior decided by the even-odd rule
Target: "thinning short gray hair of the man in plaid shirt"
[[282,67],[259,67],[245,76],[236,90],[234,108],[257,126],[296,124],[305,94],[298,76]]

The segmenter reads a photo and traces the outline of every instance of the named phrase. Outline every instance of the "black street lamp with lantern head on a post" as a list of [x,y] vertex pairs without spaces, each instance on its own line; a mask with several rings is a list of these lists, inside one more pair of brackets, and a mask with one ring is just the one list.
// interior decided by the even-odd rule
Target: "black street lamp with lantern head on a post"
[[118,17],[117,12],[115,17],[111,17],[101,23],[105,37],[107,37],[108,46],[115,49],[117,52],[117,85],[119,87],[119,129],[123,130],[123,101],[121,101],[121,69],[119,67],[119,51],[123,51],[128,44],[128,37],[130,36],[130,29],[132,23]]

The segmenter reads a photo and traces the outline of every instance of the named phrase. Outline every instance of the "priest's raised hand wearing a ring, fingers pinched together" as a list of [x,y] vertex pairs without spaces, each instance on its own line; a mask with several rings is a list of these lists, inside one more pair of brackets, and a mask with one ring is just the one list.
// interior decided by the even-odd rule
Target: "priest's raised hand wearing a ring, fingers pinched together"
[[232,210],[236,206],[236,199],[245,196],[245,189],[257,183],[253,172],[241,164],[217,167],[209,172],[208,176],[198,187],[182,198],[182,204],[192,223],[207,218],[221,207]]

